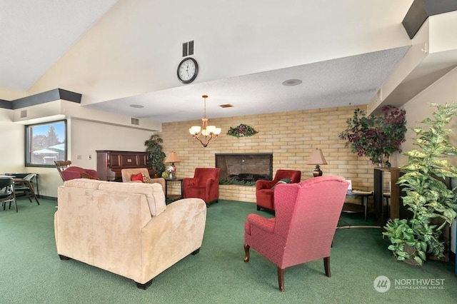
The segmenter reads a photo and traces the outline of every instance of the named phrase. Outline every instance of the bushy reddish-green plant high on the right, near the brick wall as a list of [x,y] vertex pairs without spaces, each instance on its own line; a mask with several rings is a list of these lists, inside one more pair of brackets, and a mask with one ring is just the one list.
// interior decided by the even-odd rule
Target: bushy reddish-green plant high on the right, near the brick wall
[[346,140],[346,146],[351,145],[351,151],[357,156],[368,156],[374,164],[390,166],[389,156],[401,152],[400,145],[405,141],[406,111],[390,105],[381,110],[382,116],[367,117],[363,110],[356,108],[338,138]]

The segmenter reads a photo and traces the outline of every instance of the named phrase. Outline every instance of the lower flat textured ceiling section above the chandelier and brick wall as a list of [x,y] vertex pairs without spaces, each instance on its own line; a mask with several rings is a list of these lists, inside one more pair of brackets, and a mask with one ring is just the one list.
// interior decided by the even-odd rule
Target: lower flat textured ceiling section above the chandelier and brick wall
[[[204,99],[199,96],[202,94],[209,96],[206,100],[206,114],[209,118],[361,105],[373,98],[408,48],[405,46],[195,83],[141,96],[93,103],[89,107],[165,123],[201,118]],[[287,79],[299,79],[302,83],[298,86],[283,86],[281,83]],[[219,106],[226,103],[233,105],[233,108]],[[144,108],[132,108],[131,104]]]

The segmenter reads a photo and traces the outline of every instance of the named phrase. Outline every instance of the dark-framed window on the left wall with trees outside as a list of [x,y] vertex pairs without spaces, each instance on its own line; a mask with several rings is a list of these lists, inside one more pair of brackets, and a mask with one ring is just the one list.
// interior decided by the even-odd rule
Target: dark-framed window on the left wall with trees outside
[[26,126],[26,166],[51,167],[66,161],[66,121]]

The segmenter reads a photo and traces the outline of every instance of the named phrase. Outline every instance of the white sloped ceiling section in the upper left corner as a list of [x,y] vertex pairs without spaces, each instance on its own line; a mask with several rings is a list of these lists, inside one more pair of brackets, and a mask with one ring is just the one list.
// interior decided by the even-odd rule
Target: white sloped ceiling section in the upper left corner
[[117,0],[0,0],[0,86],[27,91]]

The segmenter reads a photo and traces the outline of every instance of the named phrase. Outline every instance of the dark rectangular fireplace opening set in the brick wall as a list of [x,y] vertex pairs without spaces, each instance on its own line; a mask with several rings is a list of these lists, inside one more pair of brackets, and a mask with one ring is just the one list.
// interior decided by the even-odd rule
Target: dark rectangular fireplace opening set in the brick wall
[[220,181],[255,182],[273,179],[272,153],[216,154],[216,168],[221,169]]

